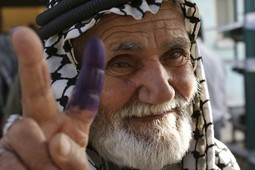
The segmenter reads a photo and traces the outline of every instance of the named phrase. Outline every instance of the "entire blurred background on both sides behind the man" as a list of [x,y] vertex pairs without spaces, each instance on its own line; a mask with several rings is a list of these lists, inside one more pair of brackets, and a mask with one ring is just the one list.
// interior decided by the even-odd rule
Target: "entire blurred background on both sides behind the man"
[[[225,70],[225,81],[220,83],[224,86],[221,89],[225,89],[224,105],[227,110],[224,111],[224,125],[219,128],[219,139],[236,155],[241,169],[255,169],[255,1],[193,1],[200,8],[203,46],[212,51],[214,58],[222,61],[221,67]],[[44,10],[45,5],[46,0],[0,0],[0,31],[1,37],[5,37],[0,38],[2,119],[8,109],[10,113],[6,105],[11,103],[13,106],[13,99],[9,99],[8,95],[15,91],[13,84],[17,72],[15,57],[3,60],[6,60],[4,56],[12,54],[12,49],[6,49],[9,43],[7,33],[17,25],[37,29],[35,16]],[[215,75],[207,78],[216,77],[216,70],[217,67]],[[215,80],[211,86],[216,86],[218,81]]]

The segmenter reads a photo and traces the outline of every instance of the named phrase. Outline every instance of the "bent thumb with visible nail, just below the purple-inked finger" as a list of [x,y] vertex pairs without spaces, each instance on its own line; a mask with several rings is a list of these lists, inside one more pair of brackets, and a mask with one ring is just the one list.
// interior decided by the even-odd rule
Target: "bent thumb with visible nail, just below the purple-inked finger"
[[49,143],[50,155],[61,170],[87,170],[86,151],[64,133],[55,135]]

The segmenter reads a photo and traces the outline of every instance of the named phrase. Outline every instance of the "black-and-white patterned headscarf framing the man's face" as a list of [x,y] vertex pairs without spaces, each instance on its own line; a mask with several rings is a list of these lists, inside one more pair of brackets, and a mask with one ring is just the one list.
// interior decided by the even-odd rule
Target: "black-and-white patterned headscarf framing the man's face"
[[[55,6],[61,0],[51,0],[48,8]],[[69,29],[54,35],[45,41],[45,54],[52,73],[52,87],[60,110],[68,102],[79,70],[74,57],[71,39],[97,24],[105,14],[115,13],[129,15],[140,20],[145,12],[156,14],[163,0],[136,0],[132,4],[112,7],[101,11],[93,18],[76,23]],[[194,72],[200,83],[200,93],[193,104],[193,139],[188,153],[183,158],[181,168],[188,169],[240,169],[235,158],[225,145],[214,139],[211,106],[205,80],[202,56],[196,46],[196,36],[200,27],[199,11],[196,4],[190,0],[177,0],[185,17],[186,30],[191,41],[191,58]],[[100,160],[98,155],[98,160]],[[111,169],[105,161],[92,160],[92,169]],[[106,165],[107,164],[107,165]],[[108,167],[108,168],[107,168]]]

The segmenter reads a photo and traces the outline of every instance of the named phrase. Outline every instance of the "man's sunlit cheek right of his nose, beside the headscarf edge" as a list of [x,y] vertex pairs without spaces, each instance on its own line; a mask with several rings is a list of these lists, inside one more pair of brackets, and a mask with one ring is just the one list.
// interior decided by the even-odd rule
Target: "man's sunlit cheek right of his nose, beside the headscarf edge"
[[170,84],[181,96],[189,99],[197,90],[197,81],[191,65],[186,64],[175,70],[172,74]]

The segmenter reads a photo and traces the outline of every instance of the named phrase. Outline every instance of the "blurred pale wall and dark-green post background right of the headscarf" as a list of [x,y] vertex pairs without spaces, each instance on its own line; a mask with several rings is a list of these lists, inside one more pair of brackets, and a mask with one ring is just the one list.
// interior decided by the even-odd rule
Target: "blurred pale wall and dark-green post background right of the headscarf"
[[220,140],[236,155],[241,169],[255,169],[255,1],[194,2],[202,17],[203,42],[222,60],[226,72],[228,111]]

